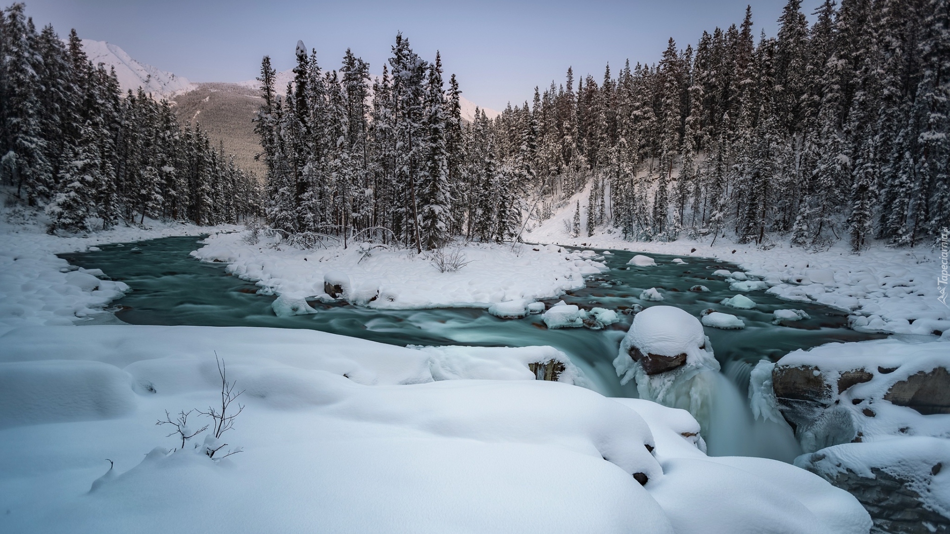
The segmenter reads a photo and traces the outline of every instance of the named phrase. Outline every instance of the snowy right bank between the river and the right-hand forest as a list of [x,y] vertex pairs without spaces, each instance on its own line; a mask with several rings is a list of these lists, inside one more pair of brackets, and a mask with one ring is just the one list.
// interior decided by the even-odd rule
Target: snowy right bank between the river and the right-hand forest
[[[554,216],[527,224],[525,240],[628,250],[638,254],[676,257],[712,257],[739,265],[742,272],[717,270],[714,276],[742,275],[769,284],[769,294],[789,302],[816,302],[844,311],[849,325],[860,332],[883,334],[933,334],[950,331],[950,308],[938,298],[940,247],[900,248],[869,240],[861,254],[853,254],[845,239],[822,250],[788,244],[787,238],[767,246],[739,244],[728,238],[672,242],[629,241],[613,228],[598,228],[592,237],[574,238],[564,221],[574,216],[575,205],[587,205],[588,186],[563,202]],[[583,214],[582,214],[583,215]],[[786,242],[782,242],[783,239]],[[714,242],[714,244],[711,244]],[[943,286],[945,287],[945,286]],[[738,290],[736,290],[738,291]]]

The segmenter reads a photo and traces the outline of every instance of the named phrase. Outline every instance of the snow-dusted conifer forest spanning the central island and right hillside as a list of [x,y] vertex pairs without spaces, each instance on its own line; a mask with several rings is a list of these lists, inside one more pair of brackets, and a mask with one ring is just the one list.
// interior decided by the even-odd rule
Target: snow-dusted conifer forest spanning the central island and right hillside
[[813,248],[914,246],[950,219],[950,8],[789,0],[775,37],[751,10],[656,65],[536,87],[489,121],[460,119],[455,76],[398,35],[379,78],[350,50],[324,71],[296,49],[287,97],[262,63],[257,133],[267,217],[288,233],[368,229],[422,250],[520,238],[589,188],[567,230]]

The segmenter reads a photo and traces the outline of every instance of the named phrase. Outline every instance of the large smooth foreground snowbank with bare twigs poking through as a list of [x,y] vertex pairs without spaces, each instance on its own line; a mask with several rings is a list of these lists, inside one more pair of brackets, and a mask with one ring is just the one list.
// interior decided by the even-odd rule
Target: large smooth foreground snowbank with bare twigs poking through
[[[245,406],[220,440],[242,452],[219,461],[201,453],[207,433],[173,451],[180,441],[155,425],[215,401],[215,351]],[[532,379],[524,363],[545,358],[569,363],[544,347],[413,349],[304,330],[9,329],[0,376],[20,385],[0,394],[40,416],[0,429],[5,527],[866,532],[857,501],[817,476],[707,457],[685,411]],[[489,375],[501,379],[466,379]],[[62,410],[86,393],[112,408]]]

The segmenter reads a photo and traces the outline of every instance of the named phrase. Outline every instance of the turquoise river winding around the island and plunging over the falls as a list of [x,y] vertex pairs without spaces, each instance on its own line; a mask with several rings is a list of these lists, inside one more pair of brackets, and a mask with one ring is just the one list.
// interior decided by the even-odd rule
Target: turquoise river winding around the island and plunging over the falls
[[[392,345],[550,345],[567,353],[594,383],[594,389],[609,396],[636,397],[633,381],[621,386],[612,364],[619,341],[630,327],[633,315],[622,312],[634,304],[676,306],[692,315],[713,308],[737,315],[743,330],[706,328],[723,374],[714,381],[711,429],[707,432],[710,453],[754,455],[789,461],[799,449],[790,429],[776,423],[753,422],[746,399],[749,371],[759,360],[775,361],[796,349],[832,341],[863,341],[881,337],[846,328],[846,314],[825,306],[790,303],[756,291],[745,294],[757,303],[753,310],[734,310],[719,301],[736,292],[729,282],[713,277],[717,269],[736,271],[729,263],[689,257],[688,263],[671,263],[672,256],[651,255],[656,267],[627,265],[634,253],[610,251],[604,263],[610,271],[588,277],[586,287],[559,298],[581,308],[618,310],[620,322],[602,331],[586,328],[548,330],[540,315],[523,319],[500,319],[477,309],[432,309],[377,311],[350,304],[312,301],[315,315],[278,317],[271,309],[274,296],[257,294],[254,283],[230,276],[223,263],[202,263],[189,253],[201,245],[193,237],[159,238],[135,243],[103,245],[101,251],[64,254],[70,263],[87,269],[102,269],[107,277],[122,280],[128,292],[113,312],[125,323],[145,325],[254,326],[307,328],[351,335]],[[602,250],[598,252],[602,252]],[[701,284],[709,293],[689,291]],[[656,287],[662,302],[641,301],[641,291]],[[804,310],[809,319],[771,324],[779,309]]]

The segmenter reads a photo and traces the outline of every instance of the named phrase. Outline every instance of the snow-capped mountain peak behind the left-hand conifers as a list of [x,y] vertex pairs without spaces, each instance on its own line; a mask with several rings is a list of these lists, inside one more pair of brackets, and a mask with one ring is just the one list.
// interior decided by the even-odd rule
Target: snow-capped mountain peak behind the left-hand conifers
[[92,65],[103,63],[105,67],[115,67],[123,91],[134,91],[142,86],[155,97],[171,97],[195,88],[188,79],[138,62],[112,43],[83,39],[83,50]]

